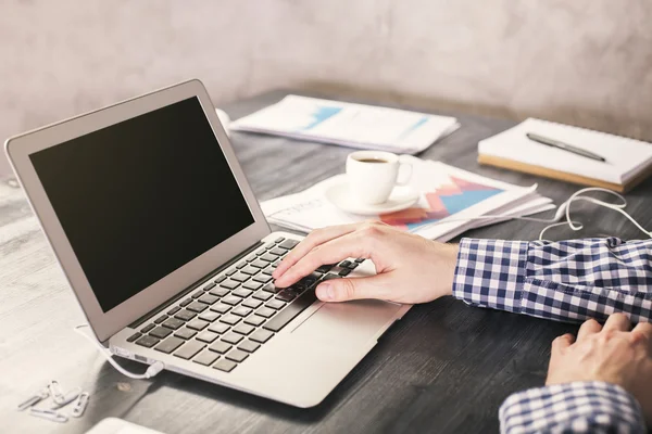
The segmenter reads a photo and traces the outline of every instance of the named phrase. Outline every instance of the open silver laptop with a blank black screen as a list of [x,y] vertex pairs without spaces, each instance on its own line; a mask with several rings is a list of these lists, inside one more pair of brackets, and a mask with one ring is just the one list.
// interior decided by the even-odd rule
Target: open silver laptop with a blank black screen
[[116,356],[312,407],[410,308],[316,298],[322,280],[374,275],[362,258],[274,286],[301,237],[269,229],[199,80],[11,138],[5,151]]

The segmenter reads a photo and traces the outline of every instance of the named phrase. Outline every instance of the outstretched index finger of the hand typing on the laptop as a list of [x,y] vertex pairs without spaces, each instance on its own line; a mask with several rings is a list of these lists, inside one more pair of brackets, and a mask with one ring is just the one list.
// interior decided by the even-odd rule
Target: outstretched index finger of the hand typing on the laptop
[[356,231],[347,235],[328,241],[310,251],[299,259],[292,267],[276,279],[275,285],[286,288],[299,279],[310,275],[324,264],[336,264],[348,257],[367,256],[371,240],[364,237],[364,232]]

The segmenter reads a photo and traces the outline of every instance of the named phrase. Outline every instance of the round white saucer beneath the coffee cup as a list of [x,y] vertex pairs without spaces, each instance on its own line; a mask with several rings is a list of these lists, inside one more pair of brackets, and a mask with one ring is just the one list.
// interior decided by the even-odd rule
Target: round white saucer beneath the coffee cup
[[363,204],[353,199],[346,180],[330,186],[324,194],[341,210],[361,216],[396,213],[411,207],[418,201],[418,194],[409,187],[394,187],[386,202],[377,205]]

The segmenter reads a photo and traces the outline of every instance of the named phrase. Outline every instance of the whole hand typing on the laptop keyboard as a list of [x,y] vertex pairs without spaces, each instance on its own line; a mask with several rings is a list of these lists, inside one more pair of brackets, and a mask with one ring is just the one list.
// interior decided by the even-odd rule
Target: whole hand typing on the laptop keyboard
[[376,276],[333,279],[316,294],[324,302],[379,298],[425,303],[452,293],[457,246],[401,232],[379,222],[365,222],[313,231],[274,271],[275,284],[286,288],[324,264],[349,257],[368,258]]

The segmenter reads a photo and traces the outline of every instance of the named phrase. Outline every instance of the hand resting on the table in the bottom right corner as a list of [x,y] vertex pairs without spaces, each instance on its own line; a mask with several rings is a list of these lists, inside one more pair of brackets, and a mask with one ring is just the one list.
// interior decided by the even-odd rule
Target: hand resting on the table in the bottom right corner
[[586,321],[577,333],[552,342],[547,385],[575,381],[604,381],[622,386],[652,421],[652,324],[631,324],[623,314],[612,315],[604,327]]

